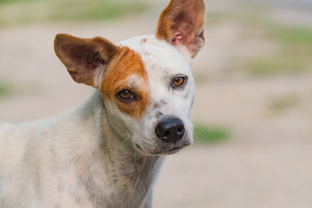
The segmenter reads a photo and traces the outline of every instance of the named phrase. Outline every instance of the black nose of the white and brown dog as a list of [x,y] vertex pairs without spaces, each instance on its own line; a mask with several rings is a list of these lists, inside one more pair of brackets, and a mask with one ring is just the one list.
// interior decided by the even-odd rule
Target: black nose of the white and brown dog
[[160,121],[155,130],[158,138],[170,143],[175,143],[181,139],[185,132],[183,122],[179,118],[168,118]]

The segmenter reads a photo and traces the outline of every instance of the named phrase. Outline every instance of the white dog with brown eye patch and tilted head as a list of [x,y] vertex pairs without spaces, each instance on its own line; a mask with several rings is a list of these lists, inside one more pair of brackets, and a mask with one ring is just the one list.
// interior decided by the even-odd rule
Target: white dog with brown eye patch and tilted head
[[1,208],[151,208],[164,155],[192,143],[192,58],[204,0],[171,0],[156,35],[113,44],[57,34],[72,79],[95,88],[56,117],[0,123]]

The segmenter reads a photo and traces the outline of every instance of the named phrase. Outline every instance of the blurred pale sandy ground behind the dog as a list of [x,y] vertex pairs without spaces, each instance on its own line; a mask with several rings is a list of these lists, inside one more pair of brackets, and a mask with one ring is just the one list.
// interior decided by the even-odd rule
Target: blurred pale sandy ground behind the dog
[[[57,33],[119,41],[155,28],[156,17],[0,29],[0,82],[13,89],[0,98],[0,120],[56,115],[92,93],[74,83],[55,56]],[[231,24],[208,27],[194,74],[218,74],[214,70],[242,44],[237,40]],[[244,48],[252,51],[257,44],[249,41]],[[228,126],[232,138],[221,144],[196,143],[167,156],[155,184],[154,208],[311,208],[312,75],[215,79],[199,82],[196,89],[192,119]],[[296,95],[295,106],[270,111],[273,99],[288,95]]]

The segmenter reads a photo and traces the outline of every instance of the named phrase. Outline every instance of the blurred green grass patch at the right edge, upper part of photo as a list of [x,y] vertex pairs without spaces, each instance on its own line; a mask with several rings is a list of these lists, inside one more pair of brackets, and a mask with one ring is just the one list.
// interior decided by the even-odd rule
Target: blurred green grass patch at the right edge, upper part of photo
[[255,76],[296,75],[312,66],[312,27],[264,25],[266,36],[280,46],[280,51],[255,57],[247,72]]

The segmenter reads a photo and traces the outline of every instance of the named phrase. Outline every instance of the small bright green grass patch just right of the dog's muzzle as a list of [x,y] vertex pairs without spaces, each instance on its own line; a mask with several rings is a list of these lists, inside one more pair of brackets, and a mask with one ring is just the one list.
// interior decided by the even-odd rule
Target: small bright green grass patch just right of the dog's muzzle
[[206,125],[194,123],[194,140],[204,143],[216,143],[230,138],[230,130],[227,127],[219,125]]

